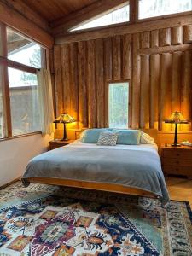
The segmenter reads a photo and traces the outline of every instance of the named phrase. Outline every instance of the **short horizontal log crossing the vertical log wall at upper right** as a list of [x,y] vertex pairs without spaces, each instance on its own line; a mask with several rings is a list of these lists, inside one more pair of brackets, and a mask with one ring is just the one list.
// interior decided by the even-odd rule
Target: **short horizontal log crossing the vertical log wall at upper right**
[[154,47],[149,49],[139,49],[139,55],[156,55],[163,53],[172,53],[175,51],[186,51],[192,49],[192,44],[180,44],[180,45],[170,45],[170,46],[162,46],[162,47]]

